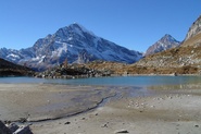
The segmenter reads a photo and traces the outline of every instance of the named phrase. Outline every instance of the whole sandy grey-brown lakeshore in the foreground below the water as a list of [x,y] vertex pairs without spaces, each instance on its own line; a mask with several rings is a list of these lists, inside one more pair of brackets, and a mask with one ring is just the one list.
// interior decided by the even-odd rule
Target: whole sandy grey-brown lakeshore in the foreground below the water
[[192,87],[0,84],[0,119],[36,121],[34,134],[200,134],[200,95]]

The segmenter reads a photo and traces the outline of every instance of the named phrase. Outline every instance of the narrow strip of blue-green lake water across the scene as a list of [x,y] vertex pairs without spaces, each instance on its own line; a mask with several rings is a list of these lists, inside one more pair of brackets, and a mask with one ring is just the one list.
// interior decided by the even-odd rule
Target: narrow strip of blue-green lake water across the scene
[[35,77],[0,77],[0,83],[43,83],[67,85],[109,85],[109,86],[154,86],[154,85],[183,85],[199,84],[201,76],[116,76],[90,77],[75,80],[47,80]]

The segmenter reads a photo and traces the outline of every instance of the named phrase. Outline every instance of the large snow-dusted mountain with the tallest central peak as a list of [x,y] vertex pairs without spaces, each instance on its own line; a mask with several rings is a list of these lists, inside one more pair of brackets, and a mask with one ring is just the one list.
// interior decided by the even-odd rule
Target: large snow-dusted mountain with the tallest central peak
[[0,57],[29,68],[46,70],[63,63],[85,63],[93,60],[134,63],[142,53],[128,50],[96,36],[79,24],[60,28],[53,35],[38,39],[35,45],[20,51],[0,49]]

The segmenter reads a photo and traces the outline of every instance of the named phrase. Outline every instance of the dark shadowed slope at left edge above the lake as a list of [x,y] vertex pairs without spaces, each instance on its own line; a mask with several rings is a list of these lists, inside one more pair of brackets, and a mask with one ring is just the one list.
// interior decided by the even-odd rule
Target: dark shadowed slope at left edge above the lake
[[28,76],[34,72],[22,65],[17,65],[0,58],[0,76]]

